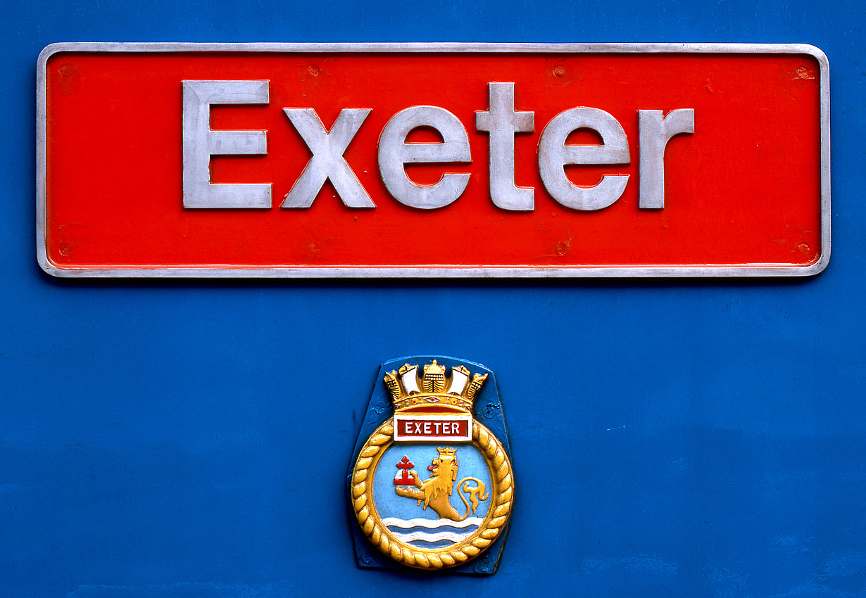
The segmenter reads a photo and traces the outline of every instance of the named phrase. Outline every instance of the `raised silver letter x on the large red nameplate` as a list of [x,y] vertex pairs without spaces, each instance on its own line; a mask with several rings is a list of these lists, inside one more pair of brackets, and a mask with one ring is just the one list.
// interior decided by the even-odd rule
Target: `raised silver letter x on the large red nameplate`
[[313,108],[283,108],[283,112],[313,151],[313,158],[292,185],[281,207],[309,208],[322,185],[330,179],[340,199],[349,208],[375,208],[376,204],[343,158],[343,152],[367,118],[370,108],[344,108],[331,132],[325,130]]

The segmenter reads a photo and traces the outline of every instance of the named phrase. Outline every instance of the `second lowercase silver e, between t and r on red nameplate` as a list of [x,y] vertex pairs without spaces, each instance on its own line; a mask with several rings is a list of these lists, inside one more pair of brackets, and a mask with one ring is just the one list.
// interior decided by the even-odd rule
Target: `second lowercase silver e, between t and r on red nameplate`
[[[592,129],[600,145],[565,145],[572,131]],[[547,124],[539,141],[539,171],[548,193],[572,209],[607,208],[623,195],[629,175],[604,175],[594,187],[578,187],[565,177],[565,164],[629,164],[623,126],[598,108],[572,108]]]

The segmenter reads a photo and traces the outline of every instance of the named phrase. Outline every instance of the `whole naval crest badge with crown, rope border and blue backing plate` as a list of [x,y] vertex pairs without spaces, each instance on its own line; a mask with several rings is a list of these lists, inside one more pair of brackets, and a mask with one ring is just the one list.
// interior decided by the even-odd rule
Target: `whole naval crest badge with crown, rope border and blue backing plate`
[[410,357],[379,380],[348,479],[359,565],[493,573],[514,474],[492,372]]

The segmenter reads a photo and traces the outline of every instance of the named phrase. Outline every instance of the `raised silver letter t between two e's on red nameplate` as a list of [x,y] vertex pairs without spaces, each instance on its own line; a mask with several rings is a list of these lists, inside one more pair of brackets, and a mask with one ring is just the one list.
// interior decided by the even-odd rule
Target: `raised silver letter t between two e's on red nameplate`
[[514,133],[533,132],[535,113],[514,112],[514,83],[488,88],[490,110],[475,113],[475,128],[490,132],[490,198],[502,209],[534,209],[533,188],[514,184]]

